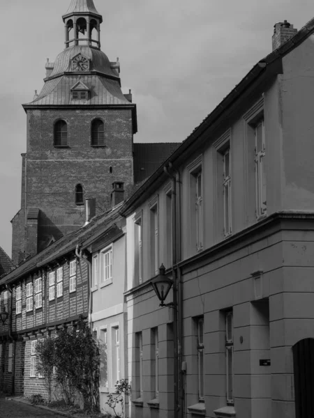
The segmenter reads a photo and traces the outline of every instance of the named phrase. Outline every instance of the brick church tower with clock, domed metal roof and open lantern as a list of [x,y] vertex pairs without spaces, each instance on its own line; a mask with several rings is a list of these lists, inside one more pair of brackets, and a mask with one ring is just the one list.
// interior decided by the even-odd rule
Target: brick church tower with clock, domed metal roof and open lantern
[[136,106],[121,91],[119,60],[100,50],[103,17],[93,0],[71,0],[65,49],[45,65],[40,93],[24,104],[21,210],[12,220],[13,261],[84,225],[84,201],[110,204],[112,183],[133,184]]

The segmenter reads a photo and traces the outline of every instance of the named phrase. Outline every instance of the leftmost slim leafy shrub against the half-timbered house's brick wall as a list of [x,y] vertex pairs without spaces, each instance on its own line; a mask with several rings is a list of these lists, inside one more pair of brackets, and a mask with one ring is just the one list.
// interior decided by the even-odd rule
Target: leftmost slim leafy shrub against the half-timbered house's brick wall
[[43,383],[48,394],[48,403],[51,402],[52,395],[52,380],[54,373],[54,339],[47,336],[44,339],[40,339],[36,343],[36,356],[37,364],[36,368],[38,374],[43,376]]

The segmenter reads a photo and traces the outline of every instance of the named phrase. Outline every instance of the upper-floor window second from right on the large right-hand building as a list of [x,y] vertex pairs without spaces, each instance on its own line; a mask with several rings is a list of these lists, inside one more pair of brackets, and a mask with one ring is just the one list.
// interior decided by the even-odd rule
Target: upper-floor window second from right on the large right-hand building
[[[227,162],[229,167],[227,167]],[[230,146],[223,152],[223,215],[223,232],[227,237],[232,233]]]

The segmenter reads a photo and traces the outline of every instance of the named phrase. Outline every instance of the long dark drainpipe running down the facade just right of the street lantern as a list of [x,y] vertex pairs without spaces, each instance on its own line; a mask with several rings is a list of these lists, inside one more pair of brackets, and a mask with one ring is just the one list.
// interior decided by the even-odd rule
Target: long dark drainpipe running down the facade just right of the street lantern
[[[183,401],[182,401],[182,376],[181,376],[181,364],[182,364],[182,327],[181,327],[181,317],[182,317],[182,306],[181,306],[181,290],[178,282],[177,274],[177,261],[178,261],[178,208],[180,207],[180,202],[178,201],[178,189],[179,183],[179,173],[174,174],[170,173],[169,169],[172,171],[172,164],[169,163],[168,167],[164,166],[164,171],[172,179],[172,279],[173,279],[173,303],[174,303],[174,417],[182,417],[183,410]],[[180,369],[179,369],[180,368]]]

